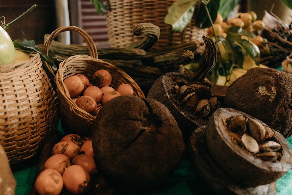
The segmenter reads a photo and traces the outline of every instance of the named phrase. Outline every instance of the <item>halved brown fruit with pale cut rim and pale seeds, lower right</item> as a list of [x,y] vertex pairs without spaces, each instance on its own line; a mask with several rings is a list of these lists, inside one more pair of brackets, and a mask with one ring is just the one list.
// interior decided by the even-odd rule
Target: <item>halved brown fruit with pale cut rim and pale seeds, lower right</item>
[[[242,136],[234,129],[228,129],[231,119],[241,115],[247,118],[246,127],[241,125],[242,122],[238,123],[244,128],[238,130],[239,134],[244,131]],[[253,125],[248,125],[251,123]],[[242,186],[270,184],[290,170],[292,151],[279,132],[270,128],[274,135],[265,137],[264,130],[268,128],[267,124],[251,115],[232,108],[218,108],[206,127],[206,145],[214,162]],[[240,142],[237,141],[238,136],[241,137]]]

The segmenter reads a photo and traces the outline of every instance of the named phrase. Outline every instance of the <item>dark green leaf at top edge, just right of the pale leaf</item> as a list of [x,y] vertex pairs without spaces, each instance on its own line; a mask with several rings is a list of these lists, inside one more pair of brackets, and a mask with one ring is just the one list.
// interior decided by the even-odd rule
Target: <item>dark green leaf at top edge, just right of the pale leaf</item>
[[[217,11],[220,4],[220,0],[210,0],[207,4],[208,11],[210,13],[212,22],[217,18]],[[201,1],[198,12],[196,12],[196,26],[199,28],[207,28],[212,25],[208,13],[206,11],[205,4]]]

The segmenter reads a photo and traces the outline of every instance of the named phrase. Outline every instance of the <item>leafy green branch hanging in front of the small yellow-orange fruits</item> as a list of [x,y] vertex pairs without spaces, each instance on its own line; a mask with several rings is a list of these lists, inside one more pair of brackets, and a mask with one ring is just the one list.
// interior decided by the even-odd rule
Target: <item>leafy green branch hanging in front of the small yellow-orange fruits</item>
[[[199,3],[199,7],[196,7]],[[173,31],[182,32],[190,23],[194,14],[195,25],[199,28],[212,27],[214,30],[214,21],[217,13],[223,13],[224,18],[239,3],[238,0],[216,1],[216,0],[181,0],[175,1],[168,8],[164,22],[172,25]],[[227,11],[229,10],[229,11]],[[232,26],[226,33],[224,38],[222,35],[214,35],[215,43],[218,50],[218,60],[208,76],[209,80],[216,83],[219,75],[227,76],[233,68],[243,68],[244,55],[249,55],[256,65],[260,63],[260,53],[255,45],[242,37],[255,37],[252,32],[248,32],[239,26]],[[221,44],[221,46],[219,46]]]

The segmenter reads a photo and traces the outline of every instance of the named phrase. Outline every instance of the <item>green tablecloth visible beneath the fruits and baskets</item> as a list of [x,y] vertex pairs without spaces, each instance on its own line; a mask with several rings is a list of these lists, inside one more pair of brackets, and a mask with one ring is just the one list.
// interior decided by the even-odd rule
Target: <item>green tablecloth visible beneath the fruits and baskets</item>
[[[62,137],[62,129],[59,125],[60,136]],[[287,138],[287,141],[292,148],[292,136]],[[29,195],[32,182],[34,180],[34,174],[37,168],[37,162],[39,161],[39,153],[36,153],[32,158],[26,161],[12,165],[14,177],[17,181],[15,195]],[[276,181],[277,195],[291,195],[292,194],[292,169],[290,169],[285,175]],[[148,190],[145,195],[197,195],[208,194],[208,186],[202,183],[196,178],[193,172],[189,159],[185,158],[181,161],[178,169],[173,175],[166,180],[158,188]],[[208,191],[209,192],[209,191]],[[116,195],[125,194],[123,190],[117,190]]]

